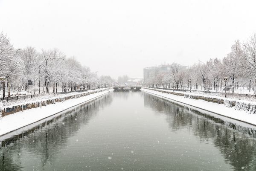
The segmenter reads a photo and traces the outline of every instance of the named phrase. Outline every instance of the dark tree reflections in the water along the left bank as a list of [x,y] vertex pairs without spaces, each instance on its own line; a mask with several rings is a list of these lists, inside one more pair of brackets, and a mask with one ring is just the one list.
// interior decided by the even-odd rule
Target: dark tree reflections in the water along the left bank
[[[52,163],[61,148],[67,145],[69,136],[76,134],[81,125],[86,125],[99,109],[113,101],[112,93],[89,101],[47,122],[3,140],[0,148],[0,171],[18,171],[22,151],[40,156],[41,165]],[[11,152],[10,152],[11,151]]]

